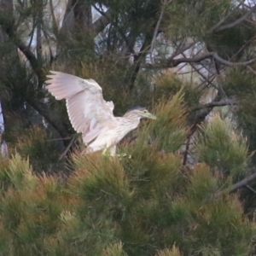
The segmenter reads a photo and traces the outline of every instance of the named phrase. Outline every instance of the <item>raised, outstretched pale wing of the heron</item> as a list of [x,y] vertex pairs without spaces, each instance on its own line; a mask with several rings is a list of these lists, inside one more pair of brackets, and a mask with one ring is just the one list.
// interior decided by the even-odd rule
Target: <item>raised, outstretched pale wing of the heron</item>
[[50,71],[46,88],[56,100],[66,99],[73,129],[82,132],[84,143],[96,138],[105,121],[113,117],[113,102],[106,102],[102,87],[93,79],[80,79],[67,73]]

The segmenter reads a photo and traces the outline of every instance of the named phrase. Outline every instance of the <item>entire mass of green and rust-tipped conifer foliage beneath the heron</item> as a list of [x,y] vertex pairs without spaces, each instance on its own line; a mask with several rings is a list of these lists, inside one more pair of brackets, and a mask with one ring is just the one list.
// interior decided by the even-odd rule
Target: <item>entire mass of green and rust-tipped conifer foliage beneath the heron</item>
[[66,179],[38,175],[20,154],[2,156],[0,254],[253,253],[255,224],[239,195],[225,192],[245,176],[245,140],[215,116],[197,138],[198,163],[183,167],[180,148],[189,129],[183,94],[154,109],[158,119],[119,147],[131,158],[78,151]]

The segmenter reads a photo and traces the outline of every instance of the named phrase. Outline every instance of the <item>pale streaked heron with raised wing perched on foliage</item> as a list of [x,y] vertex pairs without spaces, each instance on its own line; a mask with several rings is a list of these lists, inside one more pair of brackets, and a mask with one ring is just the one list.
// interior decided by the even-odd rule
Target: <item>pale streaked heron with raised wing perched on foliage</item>
[[129,110],[123,117],[113,116],[113,102],[106,102],[102,87],[93,79],[80,79],[67,73],[50,71],[46,88],[56,100],[66,99],[68,117],[73,129],[82,133],[85,154],[103,150],[114,155],[116,145],[136,129],[140,119],[156,119],[146,108]]

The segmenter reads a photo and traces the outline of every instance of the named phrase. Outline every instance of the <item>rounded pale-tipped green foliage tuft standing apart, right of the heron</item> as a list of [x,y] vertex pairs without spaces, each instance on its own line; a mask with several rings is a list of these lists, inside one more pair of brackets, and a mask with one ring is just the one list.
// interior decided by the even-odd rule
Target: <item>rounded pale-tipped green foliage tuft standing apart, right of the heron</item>
[[201,126],[201,131],[196,143],[200,159],[225,175],[244,176],[250,160],[247,142],[236,135],[231,124],[216,114],[208,124]]

